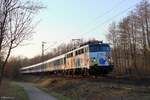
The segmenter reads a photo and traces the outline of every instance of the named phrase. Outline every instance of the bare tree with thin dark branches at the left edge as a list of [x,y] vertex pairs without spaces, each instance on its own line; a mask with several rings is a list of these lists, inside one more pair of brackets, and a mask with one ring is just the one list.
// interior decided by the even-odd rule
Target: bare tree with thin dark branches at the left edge
[[4,68],[11,54],[33,32],[32,19],[42,7],[29,0],[1,0],[0,1],[0,84]]

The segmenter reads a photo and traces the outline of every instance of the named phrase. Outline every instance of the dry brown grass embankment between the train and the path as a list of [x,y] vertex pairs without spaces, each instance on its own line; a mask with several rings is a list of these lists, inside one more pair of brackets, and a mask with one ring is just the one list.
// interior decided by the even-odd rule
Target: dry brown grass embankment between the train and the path
[[36,83],[54,96],[72,100],[150,100],[150,84],[65,78],[43,78]]

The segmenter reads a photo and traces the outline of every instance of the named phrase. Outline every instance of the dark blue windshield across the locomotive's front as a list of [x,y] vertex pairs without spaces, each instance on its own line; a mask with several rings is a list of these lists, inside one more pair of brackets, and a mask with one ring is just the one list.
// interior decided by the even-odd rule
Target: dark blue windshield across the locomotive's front
[[92,44],[89,45],[90,52],[109,52],[110,46],[108,44]]

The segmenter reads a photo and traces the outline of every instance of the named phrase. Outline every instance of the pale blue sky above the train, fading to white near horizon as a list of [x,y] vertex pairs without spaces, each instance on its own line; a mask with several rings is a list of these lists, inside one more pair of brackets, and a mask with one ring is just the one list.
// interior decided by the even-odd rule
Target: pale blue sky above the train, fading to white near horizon
[[46,6],[34,17],[39,22],[32,38],[12,51],[12,56],[32,58],[72,39],[106,42],[105,35],[113,22],[127,16],[141,0],[41,0]]

